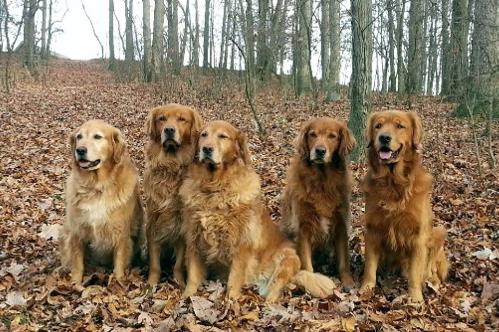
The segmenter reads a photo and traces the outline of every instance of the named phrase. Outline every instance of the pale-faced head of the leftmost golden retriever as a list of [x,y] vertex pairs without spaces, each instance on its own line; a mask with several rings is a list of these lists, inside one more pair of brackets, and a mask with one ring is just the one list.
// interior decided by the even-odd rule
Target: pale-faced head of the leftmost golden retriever
[[71,134],[70,144],[75,165],[85,171],[119,164],[125,152],[121,132],[102,120],[85,122]]

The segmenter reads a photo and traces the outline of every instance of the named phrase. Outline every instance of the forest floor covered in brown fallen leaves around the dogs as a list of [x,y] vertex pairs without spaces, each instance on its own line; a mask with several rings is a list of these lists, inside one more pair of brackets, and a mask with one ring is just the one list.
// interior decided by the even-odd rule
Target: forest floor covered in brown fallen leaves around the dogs
[[[228,120],[245,130],[272,217],[279,218],[279,194],[300,124],[313,116],[347,119],[349,103],[297,99],[269,87],[257,107],[267,136],[255,134],[251,113],[235,80],[214,76],[169,80],[163,85],[119,82],[98,62],[54,61],[43,82],[22,80],[0,94],[0,330],[498,330],[499,181],[488,166],[486,136],[477,158],[469,121],[448,116],[453,105],[421,97],[410,107],[423,119],[424,164],[434,176],[434,222],[449,232],[451,262],[443,287],[427,287],[422,305],[409,304],[406,282],[381,276],[372,298],[353,290],[314,299],[289,289],[279,304],[267,305],[248,289],[239,302],[226,302],[224,284],[210,281],[198,296],[181,300],[181,290],[163,279],[152,295],[144,292],[147,271],[134,268],[125,285],[109,271],[86,274],[85,289],[71,287],[59,269],[57,234],[64,220],[63,184],[69,173],[68,135],[90,118],[120,128],[143,172],[144,122],[148,110],[166,102],[197,108],[205,120]],[[374,97],[374,109],[408,109],[394,95]],[[483,127],[483,126],[482,126]],[[499,151],[499,126],[493,146]],[[359,181],[366,165],[352,164],[350,247],[359,280],[364,240]],[[337,277],[327,267],[325,273]]]

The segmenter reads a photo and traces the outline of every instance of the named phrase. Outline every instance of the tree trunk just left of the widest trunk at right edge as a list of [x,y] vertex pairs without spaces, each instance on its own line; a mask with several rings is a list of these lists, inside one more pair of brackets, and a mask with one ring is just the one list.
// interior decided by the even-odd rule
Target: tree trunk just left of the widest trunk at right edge
[[468,67],[468,0],[452,2],[452,28],[450,39],[450,95],[458,97],[464,92]]

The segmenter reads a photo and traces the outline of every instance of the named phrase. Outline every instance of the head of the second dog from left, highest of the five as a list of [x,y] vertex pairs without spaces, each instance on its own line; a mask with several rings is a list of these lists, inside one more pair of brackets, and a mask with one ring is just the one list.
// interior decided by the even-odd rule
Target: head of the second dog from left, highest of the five
[[201,126],[199,113],[179,104],[156,107],[146,120],[150,139],[161,144],[167,153],[175,153],[182,144],[194,142]]

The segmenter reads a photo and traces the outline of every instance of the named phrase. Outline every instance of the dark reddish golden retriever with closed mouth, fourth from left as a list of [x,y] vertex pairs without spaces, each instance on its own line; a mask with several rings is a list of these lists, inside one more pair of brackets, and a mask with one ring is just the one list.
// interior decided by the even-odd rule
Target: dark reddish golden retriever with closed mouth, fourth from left
[[344,288],[354,286],[348,254],[351,172],[356,146],[345,123],[332,118],[306,122],[296,139],[282,199],[282,229],[298,244],[302,268],[312,272],[314,251],[335,248]]

